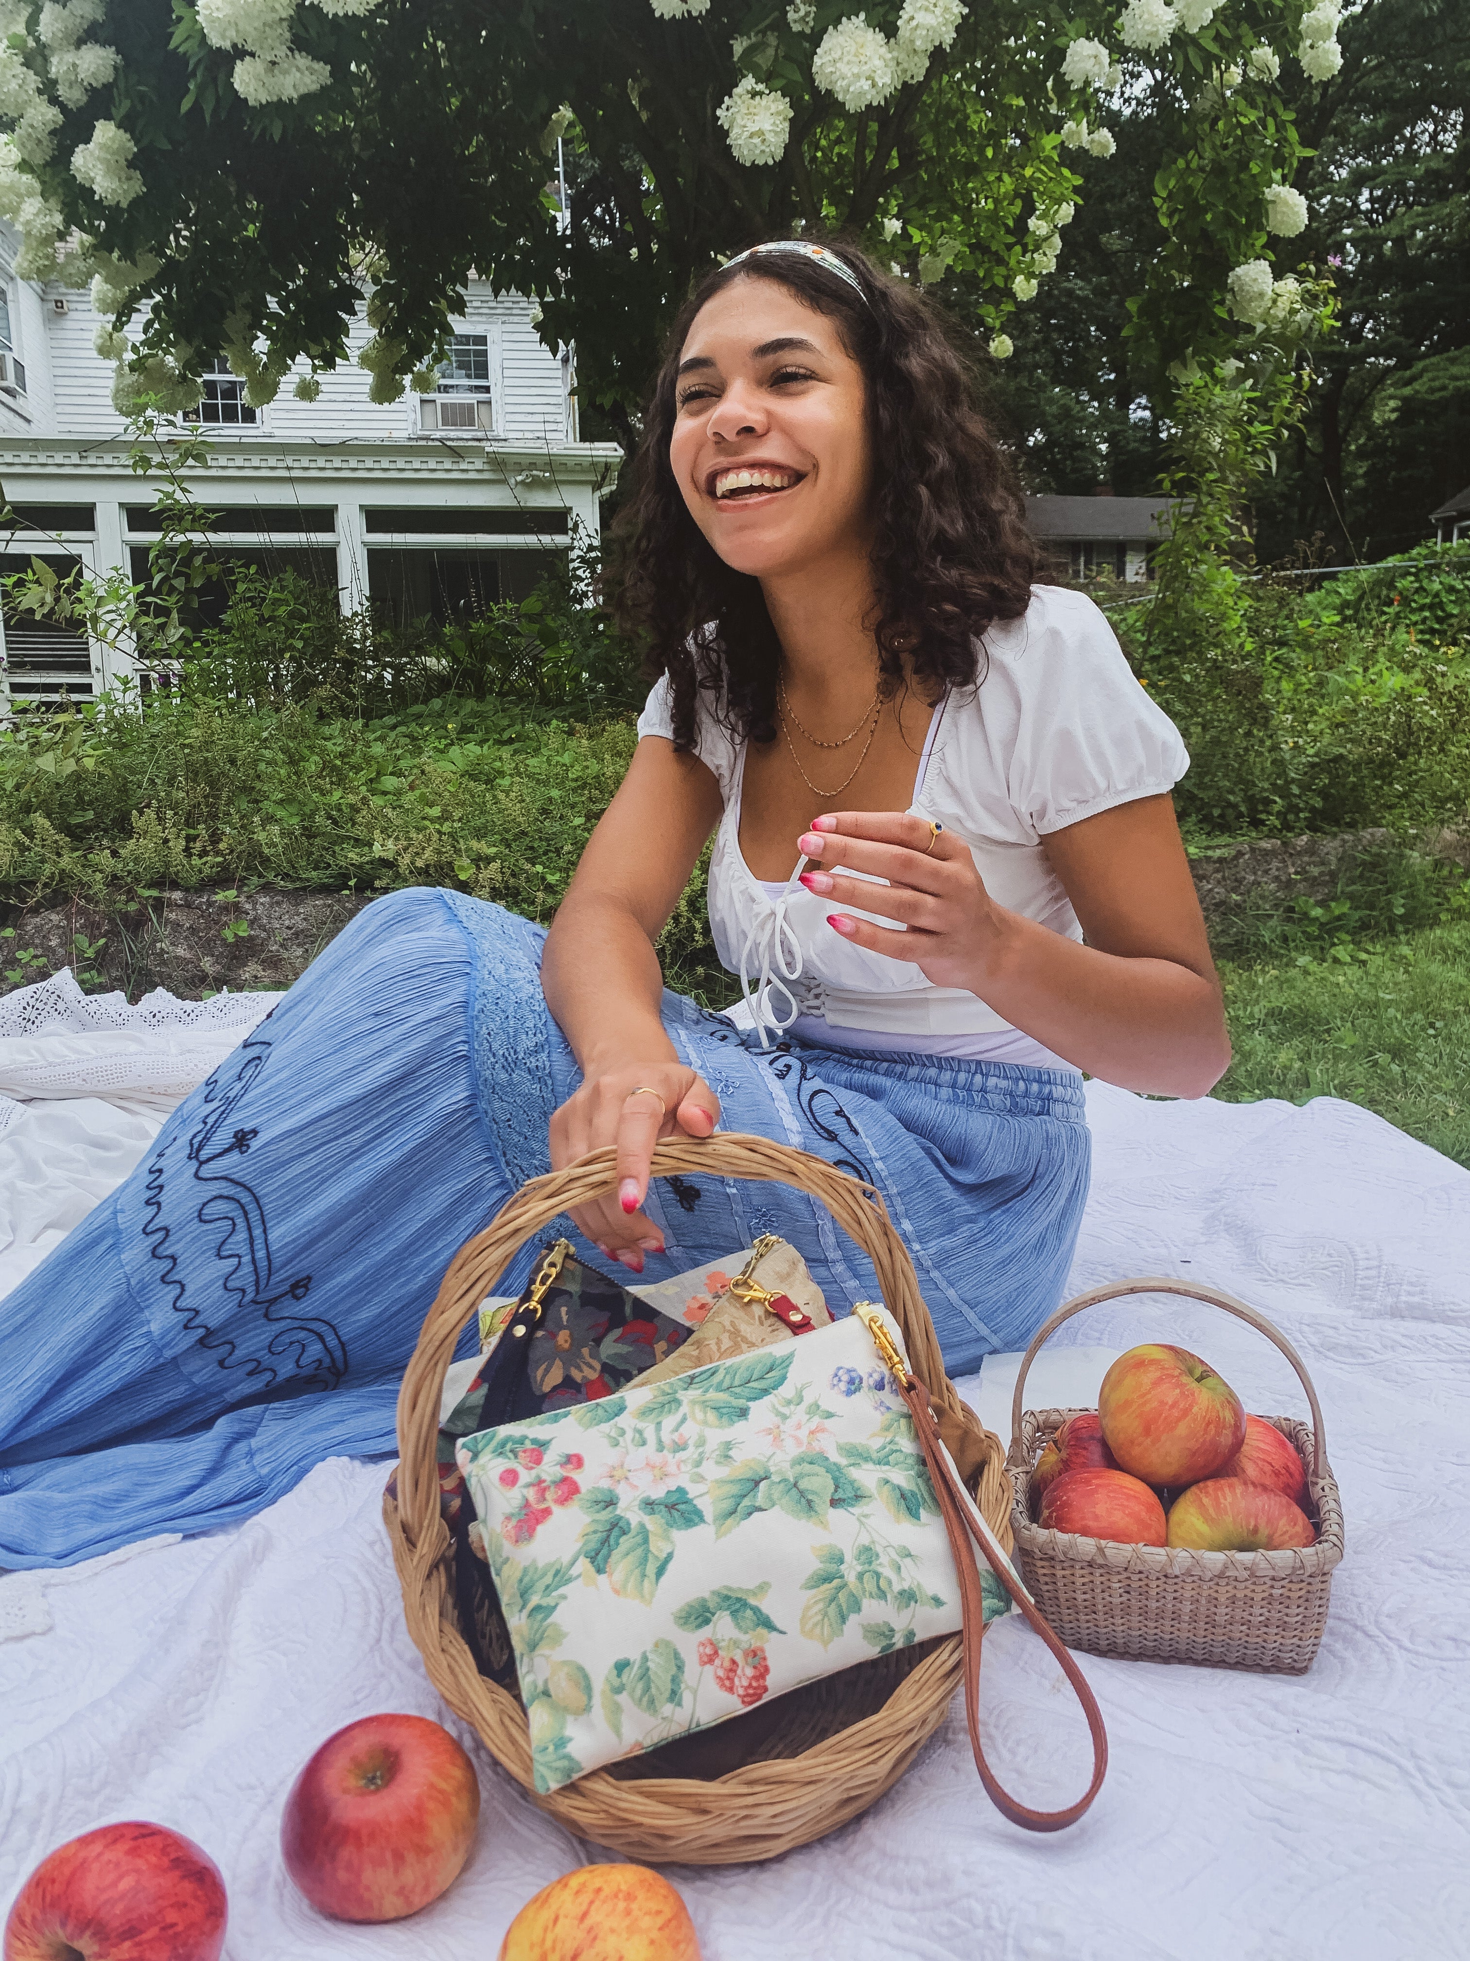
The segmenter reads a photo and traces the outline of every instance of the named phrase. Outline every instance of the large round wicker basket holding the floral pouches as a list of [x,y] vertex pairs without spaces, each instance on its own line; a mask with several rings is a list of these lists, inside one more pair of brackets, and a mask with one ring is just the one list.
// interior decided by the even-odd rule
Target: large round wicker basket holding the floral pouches
[[[904,1330],[909,1361],[929,1384],[935,1406],[955,1412],[988,1445],[976,1502],[1009,1547],[1011,1490],[1004,1445],[958,1400],[945,1375],[913,1263],[890,1226],[878,1192],[833,1171],[819,1157],[764,1137],[715,1135],[708,1141],[661,1143],[653,1175],[676,1173],[778,1181],[827,1206],[872,1259],[882,1300]],[[578,1837],[612,1845],[635,1859],[706,1865],[772,1859],[857,1818],[904,1775],[960,1686],[958,1635],[947,1635],[927,1653],[907,1649],[902,1665],[888,1671],[874,1671],[872,1663],[864,1663],[831,1675],[815,1700],[806,1692],[782,1696],[772,1704],[772,1718],[778,1720],[782,1702],[790,1702],[792,1720],[764,1734],[749,1732],[759,1735],[755,1747],[760,1761],[739,1763],[721,1777],[649,1775],[657,1763],[651,1755],[629,1763],[635,1765],[633,1777],[617,1775],[621,1767],[592,1771],[551,1796],[541,1796],[531,1786],[525,1710],[514,1694],[476,1671],[455,1622],[449,1532],[439,1518],[435,1467],[445,1369],[461,1330],[494,1290],[519,1247],[568,1206],[608,1190],[613,1175],[613,1151],[596,1151],[523,1186],[486,1232],[461,1247],[429,1308],[398,1398],[398,1502],[384,1498],[408,1632],[445,1702],[474,1726],[486,1749],[525,1786],[527,1796]],[[729,1730],[731,1741],[743,1722],[749,1718],[721,1726]]]

